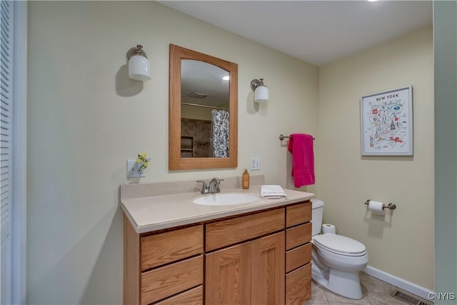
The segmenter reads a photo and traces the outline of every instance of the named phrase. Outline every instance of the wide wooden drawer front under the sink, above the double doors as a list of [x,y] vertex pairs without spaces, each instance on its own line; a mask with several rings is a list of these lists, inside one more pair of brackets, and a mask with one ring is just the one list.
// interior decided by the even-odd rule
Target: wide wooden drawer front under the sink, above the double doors
[[206,251],[282,230],[284,222],[281,208],[206,224]]

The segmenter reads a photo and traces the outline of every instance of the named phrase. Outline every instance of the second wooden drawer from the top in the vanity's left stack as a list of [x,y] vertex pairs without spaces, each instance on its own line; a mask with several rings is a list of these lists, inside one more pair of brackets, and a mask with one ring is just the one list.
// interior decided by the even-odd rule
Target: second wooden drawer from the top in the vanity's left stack
[[203,256],[141,274],[141,304],[150,304],[203,284]]

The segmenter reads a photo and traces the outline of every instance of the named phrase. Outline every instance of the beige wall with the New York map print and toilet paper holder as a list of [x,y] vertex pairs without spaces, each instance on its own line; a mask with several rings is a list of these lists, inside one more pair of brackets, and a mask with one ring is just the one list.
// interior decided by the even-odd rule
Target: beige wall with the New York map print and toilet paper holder
[[[319,69],[324,221],[366,245],[369,265],[433,289],[433,39],[428,27]],[[414,155],[361,156],[360,98],[413,86]],[[393,202],[383,218],[366,199]]]

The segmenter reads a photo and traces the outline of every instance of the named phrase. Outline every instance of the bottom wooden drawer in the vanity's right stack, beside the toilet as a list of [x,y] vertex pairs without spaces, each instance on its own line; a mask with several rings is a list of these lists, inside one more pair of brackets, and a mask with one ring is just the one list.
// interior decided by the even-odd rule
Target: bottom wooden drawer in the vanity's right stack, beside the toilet
[[301,305],[311,299],[311,263],[286,274],[286,305]]

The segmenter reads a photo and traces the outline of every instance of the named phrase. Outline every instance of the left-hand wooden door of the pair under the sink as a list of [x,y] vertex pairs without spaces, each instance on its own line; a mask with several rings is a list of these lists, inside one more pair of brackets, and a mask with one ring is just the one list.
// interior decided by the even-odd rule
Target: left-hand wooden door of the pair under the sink
[[250,304],[251,242],[206,254],[205,304]]

